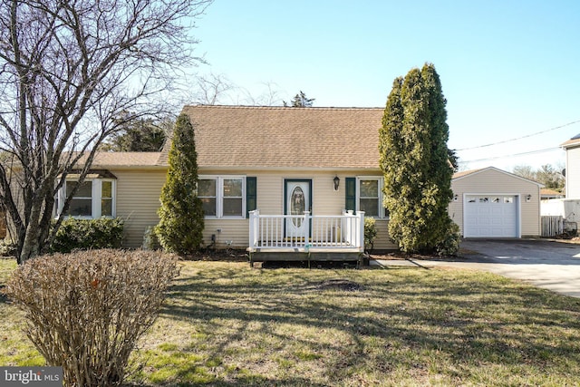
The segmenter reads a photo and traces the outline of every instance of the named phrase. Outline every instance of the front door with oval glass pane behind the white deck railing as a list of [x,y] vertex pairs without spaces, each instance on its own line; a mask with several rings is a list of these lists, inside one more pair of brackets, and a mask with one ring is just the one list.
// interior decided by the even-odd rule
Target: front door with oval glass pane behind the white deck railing
[[[312,180],[285,179],[284,215],[304,215],[304,211],[312,212]],[[288,218],[285,224],[285,236],[304,235],[304,219]]]

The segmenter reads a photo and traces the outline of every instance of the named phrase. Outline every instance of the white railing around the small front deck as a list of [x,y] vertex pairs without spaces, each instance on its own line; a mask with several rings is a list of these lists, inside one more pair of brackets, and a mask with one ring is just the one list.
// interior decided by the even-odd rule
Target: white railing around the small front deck
[[[260,215],[250,212],[250,251],[260,249],[350,249],[364,251],[364,212],[343,215]],[[296,227],[297,226],[297,227]]]

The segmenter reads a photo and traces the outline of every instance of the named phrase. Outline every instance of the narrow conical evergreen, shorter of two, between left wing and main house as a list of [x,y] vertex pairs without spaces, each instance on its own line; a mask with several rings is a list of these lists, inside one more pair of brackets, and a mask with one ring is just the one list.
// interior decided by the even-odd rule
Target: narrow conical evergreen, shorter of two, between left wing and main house
[[183,256],[199,249],[204,228],[203,206],[198,198],[198,154],[187,114],[179,115],[172,140],[156,234],[163,249]]

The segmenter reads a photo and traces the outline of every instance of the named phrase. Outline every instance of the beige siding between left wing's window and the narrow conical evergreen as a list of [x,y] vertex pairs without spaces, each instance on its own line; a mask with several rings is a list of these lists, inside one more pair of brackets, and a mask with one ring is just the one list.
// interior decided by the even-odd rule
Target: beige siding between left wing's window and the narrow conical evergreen
[[141,247],[143,234],[159,222],[164,169],[111,169],[117,177],[117,217],[125,219],[124,247]]

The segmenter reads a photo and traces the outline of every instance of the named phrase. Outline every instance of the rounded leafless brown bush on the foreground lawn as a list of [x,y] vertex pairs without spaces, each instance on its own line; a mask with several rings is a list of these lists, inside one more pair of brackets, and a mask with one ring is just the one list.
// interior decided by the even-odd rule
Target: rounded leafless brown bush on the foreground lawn
[[24,310],[25,333],[69,386],[123,381],[137,340],[154,323],[174,256],[105,249],[39,256],[18,267],[5,293]]

